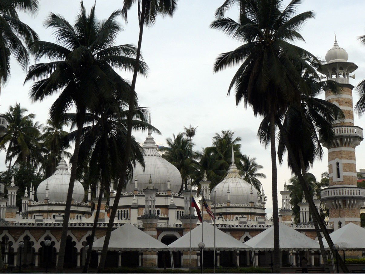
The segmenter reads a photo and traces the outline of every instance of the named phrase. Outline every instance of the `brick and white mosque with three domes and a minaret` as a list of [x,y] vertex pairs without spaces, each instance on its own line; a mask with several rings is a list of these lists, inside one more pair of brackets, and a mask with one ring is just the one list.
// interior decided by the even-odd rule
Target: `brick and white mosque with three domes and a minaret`
[[[340,94],[326,91],[326,100],[342,109],[345,119],[336,121],[333,125],[336,139],[331,143],[323,144],[328,149],[328,171],[330,186],[321,191],[321,199],[315,205],[329,209],[327,229],[332,232],[341,226],[353,222],[360,225],[360,208],[364,205],[365,189],[357,187],[355,148],[363,140],[362,129],[354,126],[352,89],[350,75],[357,69],[353,62],[348,62],[348,54],[338,46],[335,39],[334,46],[327,52],[327,63],[322,66],[320,73],[324,78],[335,80],[342,88]],[[0,121],[1,122],[1,121]],[[164,244],[170,244],[189,231],[191,193],[195,190],[184,189],[181,193],[180,172],[160,155],[158,147],[148,132],[142,145],[144,151],[145,169],[137,163],[134,178],[127,183],[120,198],[114,227],[131,224],[145,231],[150,236]],[[68,191],[70,172],[68,164],[62,159],[52,176],[39,184],[37,189],[32,186],[22,197],[22,207],[15,204],[18,187],[14,178],[6,187],[7,196],[0,197],[0,240],[4,261],[8,265],[44,267],[46,260],[50,266],[57,262],[65,201]],[[246,242],[260,234],[273,224],[272,218],[265,214],[264,190],[257,192],[242,179],[239,171],[232,163],[225,178],[212,190],[210,181],[204,176],[201,189],[208,205],[216,211],[216,225],[220,231],[231,235],[235,239]],[[99,188],[100,186],[98,186]],[[0,187],[5,193],[4,186]],[[114,201],[114,186],[110,184],[110,205]],[[99,193],[99,191],[97,191]],[[214,193],[216,199],[214,203]],[[280,222],[296,229],[312,239],[316,239],[314,225],[311,222],[309,206],[305,199],[299,203],[300,223],[294,224],[293,210],[290,205],[290,191],[285,184],[280,191],[282,207],[279,211]],[[85,190],[82,184],[75,182],[69,231],[65,253],[65,267],[81,267],[85,263],[85,247],[92,240],[91,228],[95,218],[92,202],[96,204],[99,197],[92,201],[91,190]],[[199,199],[199,198],[198,198]],[[103,197],[99,224],[96,231],[97,240],[104,236],[111,206],[106,205]],[[193,212],[194,213],[194,212]],[[200,224],[195,214],[192,214],[193,227]],[[208,214],[204,220],[211,222]],[[45,247],[45,240],[51,241],[51,251]],[[19,248],[23,242],[24,247]],[[152,266],[161,267],[161,255],[156,252],[139,252],[137,259],[123,255],[121,252],[111,252],[107,266]],[[264,254],[257,252],[258,262],[264,265]],[[310,252],[311,262],[315,265],[322,263],[319,254]],[[91,267],[97,265],[100,252],[93,252]],[[186,267],[188,255],[186,252],[174,252],[176,267]],[[21,261],[20,261],[21,258]],[[124,258],[124,259],[123,259]],[[126,259],[127,258],[127,259]],[[138,259],[139,258],[139,259]],[[199,264],[195,259],[195,266]],[[240,252],[237,255],[239,265],[251,265],[252,258],[249,252]],[[294,252],[283,255],[282,265],[293,264],[298,260]],[[222,266],[230,266],[230,255],[221,255]],[[259,264],[260,265],[260,264]]]

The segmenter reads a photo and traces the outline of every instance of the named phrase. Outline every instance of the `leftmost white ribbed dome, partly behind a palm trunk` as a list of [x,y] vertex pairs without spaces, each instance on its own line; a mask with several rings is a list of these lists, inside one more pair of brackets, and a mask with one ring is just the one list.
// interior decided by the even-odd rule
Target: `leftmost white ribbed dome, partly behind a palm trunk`
[[[37,187],[38,201],[46,198],[46,187],[48,185],[48,198],[51,202],[65,202],[70,183],[70,172],[65,159],[59,161],[56,171],[53,175],[45,179]],[[73,199],[75,202],[82,202],[85,196],[85,190],[82,184],[75,180],[73,186]]]

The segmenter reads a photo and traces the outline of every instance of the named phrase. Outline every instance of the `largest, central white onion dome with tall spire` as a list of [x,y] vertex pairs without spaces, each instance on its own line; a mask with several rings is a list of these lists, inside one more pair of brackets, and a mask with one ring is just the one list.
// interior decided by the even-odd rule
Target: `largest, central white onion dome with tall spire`
[[[151,115],[149,119],[151,124]],[[140,163],[136,162],[133,170],[133,175],[137,176],[137,182],[133,183],[130,180],[126,185],[126,191],[133,191],[135,184],[139,191],[146,189],[149,185],[150,175],[153,181],[153,186],[159,191],[168,189],[168,179],[170,179],[170,189],[173,193],[178,193],[181,187],[181,175],[178,169],[168,161],[166,161],[157,150],[157,145],[152,137],[152,131],[148,130],[148,136],[143,148],[143,160],[145,161],[145,169]]]

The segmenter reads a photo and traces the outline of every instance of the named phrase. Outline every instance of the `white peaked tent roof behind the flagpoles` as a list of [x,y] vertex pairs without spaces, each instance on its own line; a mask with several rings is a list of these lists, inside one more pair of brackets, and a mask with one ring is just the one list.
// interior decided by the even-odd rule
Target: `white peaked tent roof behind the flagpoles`
[[[200,250],[198,244],[201,242],[201,227],[198,225],[191,231],[191,249]],[[169,244],[172,251],[187,251],[189,250],[190,232],[186,233],[183,237],[177,239],[173,243]],[[203,225],[203,243],[204,250],[214,249],[214,226],[204,222]],[[215,247],[216,250],[249,250],[250,248],[246,244],[236,240],[234,237],[215,229]]]

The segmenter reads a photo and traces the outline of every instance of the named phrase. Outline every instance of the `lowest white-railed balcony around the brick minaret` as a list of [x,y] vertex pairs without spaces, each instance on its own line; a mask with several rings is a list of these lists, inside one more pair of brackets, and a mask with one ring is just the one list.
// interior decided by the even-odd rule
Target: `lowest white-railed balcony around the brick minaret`
[[365,189],[357,186],[327,187],[320,192],[329,209],[359,209],[365,202]]

